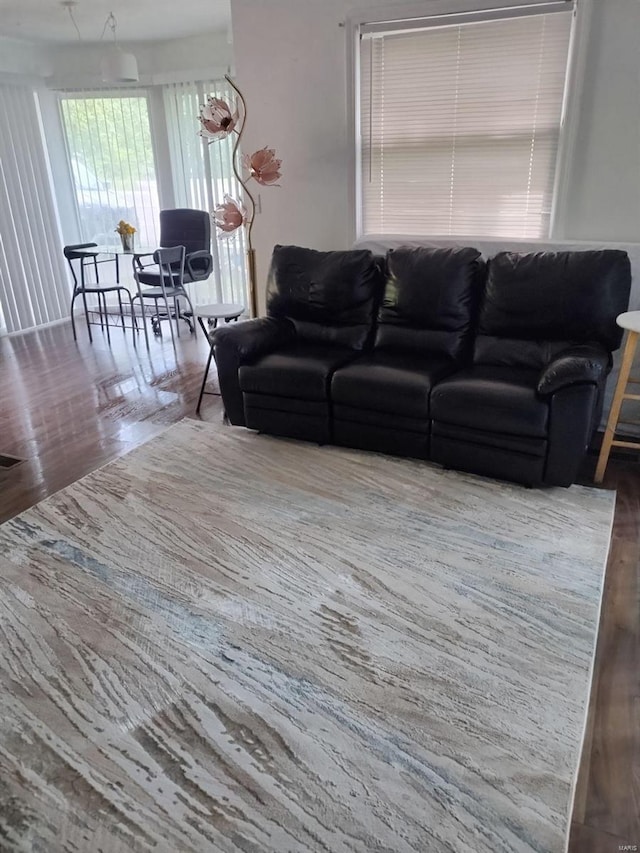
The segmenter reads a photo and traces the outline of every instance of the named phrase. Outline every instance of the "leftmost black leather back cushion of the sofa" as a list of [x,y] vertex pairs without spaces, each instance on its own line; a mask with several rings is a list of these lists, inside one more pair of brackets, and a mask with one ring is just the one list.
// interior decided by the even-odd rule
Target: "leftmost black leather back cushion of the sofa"
[[287,318],[298,340],[363,349],[382,296],[382,259],[367,249],[319,252],[276,246],[267,314]]

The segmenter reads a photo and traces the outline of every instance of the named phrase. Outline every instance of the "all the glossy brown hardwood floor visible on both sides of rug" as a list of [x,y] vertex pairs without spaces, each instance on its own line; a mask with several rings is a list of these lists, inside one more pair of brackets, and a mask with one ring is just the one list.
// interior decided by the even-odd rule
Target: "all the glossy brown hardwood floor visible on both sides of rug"
[[[111,340],[80,329],[76,344],[69,324],[0,339],[0,454],[24,460],[0,469],[0,522],[195,417],[202,336],[175,351],[152,338],[149,353],[130,333]],[[205,397],[202,419],[222,423],[219,398]],[[570,853],[640,850],[640,466],[613,459],[604,486],[617,508]]]

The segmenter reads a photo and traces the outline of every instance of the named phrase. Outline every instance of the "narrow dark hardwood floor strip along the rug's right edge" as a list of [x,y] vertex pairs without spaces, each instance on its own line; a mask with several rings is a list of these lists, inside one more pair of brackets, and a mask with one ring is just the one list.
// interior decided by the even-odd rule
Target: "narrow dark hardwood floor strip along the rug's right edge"
[[616,516],[570,853],[640,850],[638,465],[612,460],[604,485],[617,490]]

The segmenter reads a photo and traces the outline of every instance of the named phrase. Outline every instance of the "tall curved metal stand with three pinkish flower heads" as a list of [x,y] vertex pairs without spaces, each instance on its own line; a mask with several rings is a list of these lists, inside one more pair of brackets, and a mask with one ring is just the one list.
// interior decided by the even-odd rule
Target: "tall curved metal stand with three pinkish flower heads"
[[[249,308],[251,316],[258,314],[256,296],[256,253],[251,242],[251,232],[256,216],[256,201],[247,186],[250,180],[256,181],[263,187],[278,186],[281,160],[276,159],[273,148],[261,148],[251,155],[245,155],[242,163],[238,164],[238,151],[242,134],[247,122],[247,105],[240,89],[233,80],[225,75],[224,78],[238,96],[237,103],[227,103],[221,98],[211,96],[207,103],[200,107],[200,136],[209,144],[220,139],[226,139],[232,133],[236,135],[233,146],[233,171],[238,183],[244,190],[244,199],[224,196],[224,201],[212,212],[213,222],[222,235],[232,234],[244,226],[247,234],[247,282],[249,287]],[[245,178],[242,167],[248,172]]]

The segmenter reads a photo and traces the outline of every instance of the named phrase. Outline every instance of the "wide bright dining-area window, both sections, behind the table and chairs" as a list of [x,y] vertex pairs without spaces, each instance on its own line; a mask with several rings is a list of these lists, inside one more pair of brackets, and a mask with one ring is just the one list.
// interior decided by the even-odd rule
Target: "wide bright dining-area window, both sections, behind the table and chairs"
[[[235,136],[207,145],[198,135],[200,105],[211,94],[233,99],[224,80],[61,95],[82,240],[113,243],[124,219],[138,229],[138,246],[156,246],[159,195],[163,207],[207,211],[225,194],[242,198],[233,174]],[[244,229],[218,240],[213,228],[211,253],[213,274],[188,286],[192,302],[245,302]]]

